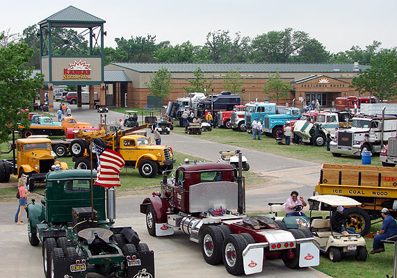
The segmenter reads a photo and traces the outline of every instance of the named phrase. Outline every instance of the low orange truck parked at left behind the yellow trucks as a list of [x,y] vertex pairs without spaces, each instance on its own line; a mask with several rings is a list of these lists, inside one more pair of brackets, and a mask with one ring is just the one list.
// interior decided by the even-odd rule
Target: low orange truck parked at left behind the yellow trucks
[[64,117],[60,126],[31,124],[29,127],[20,126],[20,133],[22,138],[28,138],[31,135],[64,136],[67,128],[85,127],[91,126],[88,122],[77,122],[74,117]]

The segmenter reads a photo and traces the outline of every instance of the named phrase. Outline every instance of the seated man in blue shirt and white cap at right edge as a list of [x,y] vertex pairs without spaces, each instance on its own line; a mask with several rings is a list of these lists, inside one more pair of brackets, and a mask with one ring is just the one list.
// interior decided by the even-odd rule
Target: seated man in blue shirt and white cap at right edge
[[371,250],[369,254],[384,252],[384,244],[380,241],[397,235],[396,220],[390,215],[390,211],[387,208],[382,208],[381,212],[384,220],[382,227],[380,227],[380,231],[378,231],[378,234],[373,238],[373,250]]

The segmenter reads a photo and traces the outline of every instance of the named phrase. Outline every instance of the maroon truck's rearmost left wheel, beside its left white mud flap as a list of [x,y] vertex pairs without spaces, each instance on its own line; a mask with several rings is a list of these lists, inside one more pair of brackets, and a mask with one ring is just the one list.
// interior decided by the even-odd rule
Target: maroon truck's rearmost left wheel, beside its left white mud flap
[[244,273],[243,250],[245,247],[247,247],[247,244],[241,234],[229,234],[223,241],[223,264],[231,275],[242,275]]

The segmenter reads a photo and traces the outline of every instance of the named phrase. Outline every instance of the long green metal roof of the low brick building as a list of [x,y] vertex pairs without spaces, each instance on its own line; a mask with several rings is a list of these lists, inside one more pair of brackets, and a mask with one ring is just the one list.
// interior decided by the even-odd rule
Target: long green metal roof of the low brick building
[[[353,63],[111,63],[136,72],[157,72],[165,67],[168,72],[357,72]],[[359,65],[359,70],[370,66]]]

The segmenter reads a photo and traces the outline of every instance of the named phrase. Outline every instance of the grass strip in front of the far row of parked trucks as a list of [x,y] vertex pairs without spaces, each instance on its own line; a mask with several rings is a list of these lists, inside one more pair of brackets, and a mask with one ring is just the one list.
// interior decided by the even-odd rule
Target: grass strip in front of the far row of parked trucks
[[[175,122],[172,132],[185,134],[184,128],[177,126]],[[187,136],[187,135],[186,135]],[[277,145],[273,137],[265,135],[261,136],[261,140],[252,140],[252,135],[246,132],[233,131],[232,129],[216,128],[212,131],[205,131],[200,136],[201,139],[222,144],[234,145],[237,147],[245,147],[255,149],[261,152],[269,152],[280,156],[297,158],[303,161],[312,161],[316,163],[334,163],[334,164],[351,164],[361,165],[362,161],[359,156],[341,156],[334,157],[331,152],[327,152],[326,147],[315,147],[311,145]],[[382,165],[379,156],[372,157],[371,165]]]

